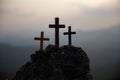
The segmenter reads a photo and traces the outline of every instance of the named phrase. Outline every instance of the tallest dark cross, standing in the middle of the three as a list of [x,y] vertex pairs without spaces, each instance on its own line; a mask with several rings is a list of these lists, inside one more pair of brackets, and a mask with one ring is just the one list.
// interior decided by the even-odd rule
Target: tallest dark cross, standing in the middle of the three
[[65,25],[59,24],[59,18],[55,18],[55,24],[50,24],[49,28],[55,28],[55,46],[59,48],[59,28],[65,28]]

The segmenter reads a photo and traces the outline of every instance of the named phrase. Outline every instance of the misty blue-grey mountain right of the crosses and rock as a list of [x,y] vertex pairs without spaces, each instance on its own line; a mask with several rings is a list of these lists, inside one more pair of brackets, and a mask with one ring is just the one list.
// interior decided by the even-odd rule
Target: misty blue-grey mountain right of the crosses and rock
[[[83,47],[95,67],[102,67],[119,61],[120,57],[120,26],[93,32],[78,32],[80,41],[75,42]],[[77,46],[80,46],[76,44]],[[105,61],[104,61],[105,60]],[[94,66],[93,66],[94,67]]]

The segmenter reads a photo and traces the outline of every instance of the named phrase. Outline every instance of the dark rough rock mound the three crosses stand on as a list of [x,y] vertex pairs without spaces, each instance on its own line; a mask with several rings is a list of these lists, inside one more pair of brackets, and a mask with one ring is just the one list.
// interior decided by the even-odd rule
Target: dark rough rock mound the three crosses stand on
[[92,80],[89,58],[79,47],[49,45],[32,54],[13,80]]

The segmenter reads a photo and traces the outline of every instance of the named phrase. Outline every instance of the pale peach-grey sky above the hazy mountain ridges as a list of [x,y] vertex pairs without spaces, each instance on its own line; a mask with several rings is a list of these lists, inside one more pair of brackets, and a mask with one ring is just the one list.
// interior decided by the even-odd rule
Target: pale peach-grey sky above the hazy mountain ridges
[[66,30],[110,28],[120,24],[120,0],[0,0],[0,37],[53,32],[55,17]]

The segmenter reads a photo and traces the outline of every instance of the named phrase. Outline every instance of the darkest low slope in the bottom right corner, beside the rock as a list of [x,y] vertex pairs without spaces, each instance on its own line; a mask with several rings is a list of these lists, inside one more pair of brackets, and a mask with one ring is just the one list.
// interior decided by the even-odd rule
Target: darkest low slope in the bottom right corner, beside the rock
[[120,80],[120,61],[97,69],[93,75],[94,80]]

